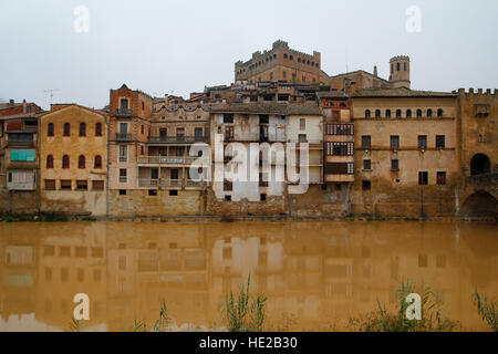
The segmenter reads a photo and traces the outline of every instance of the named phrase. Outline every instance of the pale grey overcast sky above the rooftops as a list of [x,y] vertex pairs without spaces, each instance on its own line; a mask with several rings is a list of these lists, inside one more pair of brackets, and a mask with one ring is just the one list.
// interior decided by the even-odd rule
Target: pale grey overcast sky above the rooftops
[[496,0],[0,0],[0,100],[49,108],[55,88],[54,103],[101,108],[123,83],[187,96],[230,84],[236,61],[278,39],[321,52],[329,75],[377,65],[387,79],[390,58],[404,54],[412,88],[494,88],[497,23]]

